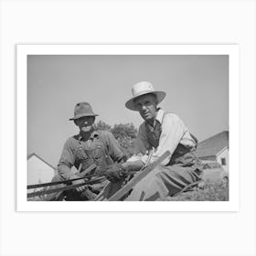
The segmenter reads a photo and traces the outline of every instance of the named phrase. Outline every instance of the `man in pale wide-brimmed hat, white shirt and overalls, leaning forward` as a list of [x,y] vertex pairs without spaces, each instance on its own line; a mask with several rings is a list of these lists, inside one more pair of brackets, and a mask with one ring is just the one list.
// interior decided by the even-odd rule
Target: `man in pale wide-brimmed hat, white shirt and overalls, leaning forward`
[[[132,92],[133,98],[125,106],[139,112],[144,119],[137,135],[142,156],[124,163],[123,167],[127,171],[140,170],[146,162],[155,162],[166,150],[171,155],[135,185],[125,200],[162,200],[199,180],[201,163],[195,153],[197,139],[176,114],[157,107],[165,99],[165,91],[155,91],[150,82],[141,81],[133,85]],[[146,155],[148,151],[153,154]],[[113,168],[108,172],[109,176],[117,176],[119,171]]]

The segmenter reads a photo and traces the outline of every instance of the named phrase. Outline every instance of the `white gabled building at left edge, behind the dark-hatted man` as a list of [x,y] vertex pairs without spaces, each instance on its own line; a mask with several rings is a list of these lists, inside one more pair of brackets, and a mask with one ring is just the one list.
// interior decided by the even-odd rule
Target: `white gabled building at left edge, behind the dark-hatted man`
[[27,156],[27,185],[50,182],[56,174],[56,168],[33,153]]

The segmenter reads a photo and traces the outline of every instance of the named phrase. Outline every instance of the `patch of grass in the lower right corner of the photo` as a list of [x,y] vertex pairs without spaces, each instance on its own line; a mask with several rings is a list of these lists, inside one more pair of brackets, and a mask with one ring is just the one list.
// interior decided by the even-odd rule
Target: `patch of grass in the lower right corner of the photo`
[[229,181],[204,181],[199,187],[177,195],[167,197],[168,201],[229,201]]

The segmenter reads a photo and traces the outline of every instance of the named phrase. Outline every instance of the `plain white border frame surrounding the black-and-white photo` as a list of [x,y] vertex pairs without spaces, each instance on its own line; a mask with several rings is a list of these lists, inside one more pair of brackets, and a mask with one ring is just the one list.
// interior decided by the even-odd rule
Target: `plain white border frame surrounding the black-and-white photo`
[[[27,201],[27,55],[229,55],[229,201]],[[240,60],[238,45],[17,45],[17,211],[239,211]],[[234,113],[234,114],[233,114]]]

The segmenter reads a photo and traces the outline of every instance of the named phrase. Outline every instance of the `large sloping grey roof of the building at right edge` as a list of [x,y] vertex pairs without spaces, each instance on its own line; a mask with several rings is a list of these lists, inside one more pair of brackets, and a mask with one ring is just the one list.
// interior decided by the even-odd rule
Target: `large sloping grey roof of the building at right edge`
[[207,157],[218,155],[225,147],[229,147],[229,131],[209,137],[197,144],[197,156]]

